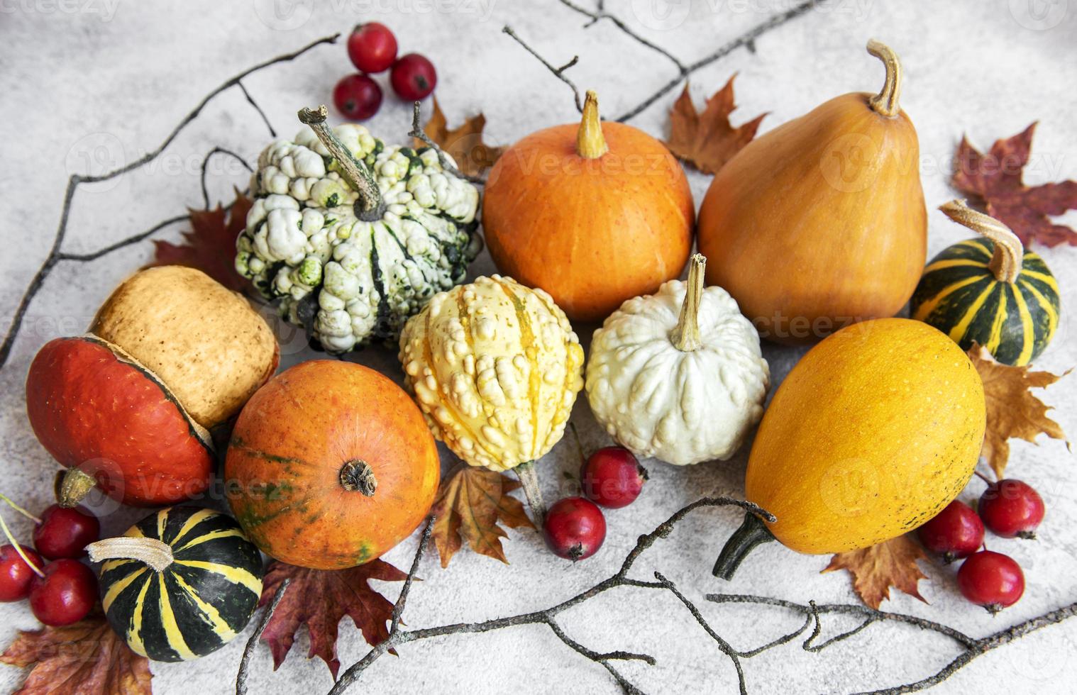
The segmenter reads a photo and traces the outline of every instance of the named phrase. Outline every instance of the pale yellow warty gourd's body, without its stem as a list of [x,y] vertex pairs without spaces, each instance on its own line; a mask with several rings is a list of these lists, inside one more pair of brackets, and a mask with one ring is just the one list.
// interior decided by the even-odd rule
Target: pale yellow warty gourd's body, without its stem
[[584,351],[564,312],[500,275],[435,295],[404,327],[400,358],[434,436],[498,471],[548,452],[584,385]]

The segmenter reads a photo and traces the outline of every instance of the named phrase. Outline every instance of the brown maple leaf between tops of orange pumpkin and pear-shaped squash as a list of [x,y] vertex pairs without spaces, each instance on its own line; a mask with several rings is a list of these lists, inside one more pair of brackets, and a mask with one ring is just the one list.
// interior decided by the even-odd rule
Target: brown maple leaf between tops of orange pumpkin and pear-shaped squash
[[729,123],[729,114],[737,105],[733,103],[733,79],[725,87],[714,93],[707,100],[702,113],[696,111],[688,94],[688,83],[684,91],[673,102],[670,110],[670,139],[666,146],[679,159],[691,165],[703,173],[717,173],[732,156],[751,142],[759,122],[767,114],[761,114],[742,126],[733,128]]

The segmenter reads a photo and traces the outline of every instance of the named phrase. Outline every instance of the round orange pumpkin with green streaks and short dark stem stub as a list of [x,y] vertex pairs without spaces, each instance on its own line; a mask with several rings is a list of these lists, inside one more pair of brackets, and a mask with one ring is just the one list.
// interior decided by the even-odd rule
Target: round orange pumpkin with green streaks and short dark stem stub
[[240,413],[224,466],[228,503],[267,555],[344,569],[407,538],[434,501],[440,466],[422,414],[361,365],[307,361]]

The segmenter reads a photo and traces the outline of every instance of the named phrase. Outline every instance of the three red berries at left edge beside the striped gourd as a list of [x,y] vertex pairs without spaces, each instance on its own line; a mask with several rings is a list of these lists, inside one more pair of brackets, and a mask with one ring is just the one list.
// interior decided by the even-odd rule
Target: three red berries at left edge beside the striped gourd
[[82,507],[53,505],[39,519],[3,499],[33,520],[37,551],[19,545],[3,524],[11,543],[0,547],[0,601],[29,598],[34,618],[45,625],[78,623],[97,602],[97,577],[79,562],[86,545],[100,538],[97,517]]

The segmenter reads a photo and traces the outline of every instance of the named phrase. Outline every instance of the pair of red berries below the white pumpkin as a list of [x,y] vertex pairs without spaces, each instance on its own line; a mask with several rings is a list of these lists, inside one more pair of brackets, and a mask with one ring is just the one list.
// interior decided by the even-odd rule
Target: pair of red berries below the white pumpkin
[[579,470],[584,496],[565,497],[546,512],[546,544],[559,557],[590,557],[605,540],[605,516],[599,505],[619,509],[632,503],[646,480],[646,469],[624,446],[598,450]]

